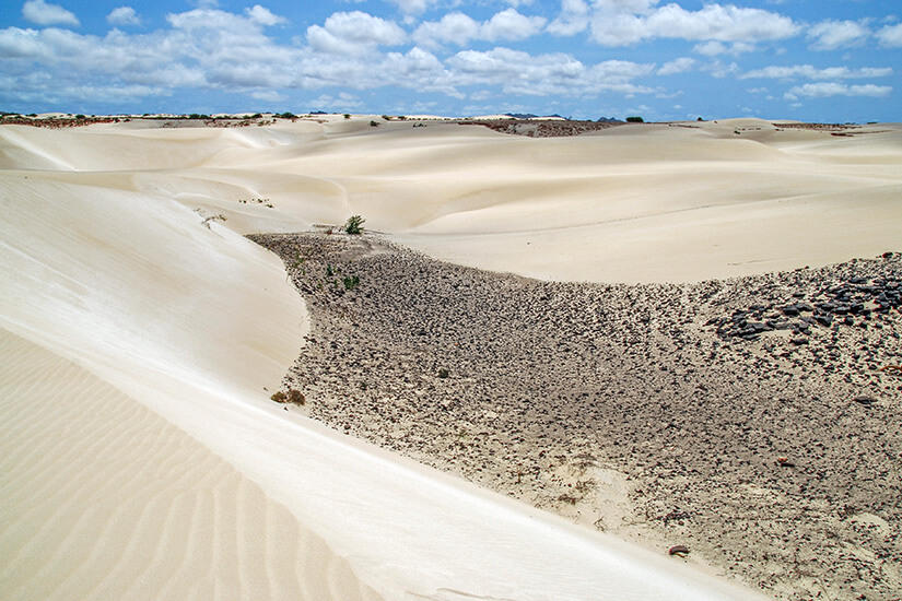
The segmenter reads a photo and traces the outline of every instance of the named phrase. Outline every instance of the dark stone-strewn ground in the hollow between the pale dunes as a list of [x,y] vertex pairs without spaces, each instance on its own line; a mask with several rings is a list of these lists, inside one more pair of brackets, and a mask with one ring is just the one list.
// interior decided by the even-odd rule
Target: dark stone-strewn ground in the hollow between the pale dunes
[[899,255],[596,285],[253,239],[308,303],[311,416],[776,598],[902,598]]

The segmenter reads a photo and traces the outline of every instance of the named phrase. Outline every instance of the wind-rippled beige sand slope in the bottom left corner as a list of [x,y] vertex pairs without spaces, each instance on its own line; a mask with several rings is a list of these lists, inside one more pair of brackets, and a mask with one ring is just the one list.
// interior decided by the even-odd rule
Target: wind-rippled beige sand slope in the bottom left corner
[[3,599],[377,599],[256,484],[142,404],[0,332]]

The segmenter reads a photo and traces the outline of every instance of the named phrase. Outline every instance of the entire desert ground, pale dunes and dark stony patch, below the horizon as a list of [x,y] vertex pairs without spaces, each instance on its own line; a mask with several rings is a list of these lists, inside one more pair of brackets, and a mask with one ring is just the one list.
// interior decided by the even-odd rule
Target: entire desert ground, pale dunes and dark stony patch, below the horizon
[[4,597],[899,598],[902,126],[225,125],[0,125]]

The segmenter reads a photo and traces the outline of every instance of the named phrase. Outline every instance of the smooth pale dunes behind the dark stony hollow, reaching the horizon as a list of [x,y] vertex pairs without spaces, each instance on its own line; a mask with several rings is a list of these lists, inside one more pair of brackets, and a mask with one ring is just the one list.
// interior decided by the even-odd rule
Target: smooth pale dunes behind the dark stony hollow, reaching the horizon
[[[116,172],[118,186],[129,174],[131,189],[214,209],[241,233],[360,213],[438,258],[543,279],[698,281],[869,257],[899,241],[898,126],[831,135],[734,119],[528,139],[445,122],[319,120],[9,127],[3,165],[63,169],[91,185],[97,176],[84,172]],[[248,198],[273,208],[238,203]]]

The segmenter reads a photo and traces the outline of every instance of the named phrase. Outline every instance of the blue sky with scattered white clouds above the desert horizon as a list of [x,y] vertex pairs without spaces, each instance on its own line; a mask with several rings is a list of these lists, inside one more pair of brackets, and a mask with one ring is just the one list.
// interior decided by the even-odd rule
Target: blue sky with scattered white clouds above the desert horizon
[[0,110],[902,121],[899,0],[251,2],[4,0]]

